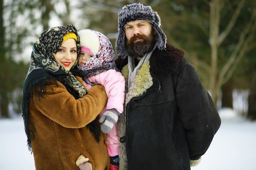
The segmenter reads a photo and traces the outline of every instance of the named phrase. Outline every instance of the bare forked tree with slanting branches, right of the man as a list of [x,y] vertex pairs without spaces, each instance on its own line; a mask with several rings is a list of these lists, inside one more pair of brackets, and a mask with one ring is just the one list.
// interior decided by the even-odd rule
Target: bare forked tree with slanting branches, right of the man
[[235,44],[234,51],[230,54],[229,60],[219,68],[218,57],[220,56],[218,49],[222,42],[227,38],[231,29],[233,29],[240,11],[243,7],[245,0],[241,0],[237,5],[236,11],[232,15],[229,23],[225,29],[220,33],[220,18],[221,10],[224,7],[222,0],[212,0],[210,5],[210,32],[209,32],[209,44],[211,46],[211,69],[209,70],[210,82],[209,91],[211,91],[213,101],[217,102],[218,93],[223,84],[225,84],[233,75],[239,61],[245,57],[245,54],[252,49],[252,40],[255,34],[256,27],[256,10],[251,13],[250,20],[245,25],[244,29],[239,35],[239,40]]

